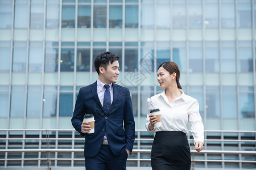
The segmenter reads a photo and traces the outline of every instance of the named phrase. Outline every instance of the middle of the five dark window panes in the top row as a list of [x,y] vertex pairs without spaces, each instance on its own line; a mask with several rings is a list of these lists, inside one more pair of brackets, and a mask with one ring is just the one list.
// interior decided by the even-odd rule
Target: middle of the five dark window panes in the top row
[[106,5],[94,6],[93,27],[106,28]]

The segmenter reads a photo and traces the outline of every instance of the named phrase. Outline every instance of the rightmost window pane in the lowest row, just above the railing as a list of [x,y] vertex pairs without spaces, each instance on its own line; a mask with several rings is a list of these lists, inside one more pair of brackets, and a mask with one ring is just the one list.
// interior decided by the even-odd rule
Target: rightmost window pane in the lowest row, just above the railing
[[254,94],[240,93],[240,117],[254,118]]

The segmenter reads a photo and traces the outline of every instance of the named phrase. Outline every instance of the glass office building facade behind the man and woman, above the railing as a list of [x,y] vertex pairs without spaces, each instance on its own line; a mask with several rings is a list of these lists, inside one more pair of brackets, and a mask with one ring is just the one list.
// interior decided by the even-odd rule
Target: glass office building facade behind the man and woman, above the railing
[[136,129],[176,62],[205,130],[256,130],[255,0],[0,0],[0,129],[73,129],[94,59],[118,54]]

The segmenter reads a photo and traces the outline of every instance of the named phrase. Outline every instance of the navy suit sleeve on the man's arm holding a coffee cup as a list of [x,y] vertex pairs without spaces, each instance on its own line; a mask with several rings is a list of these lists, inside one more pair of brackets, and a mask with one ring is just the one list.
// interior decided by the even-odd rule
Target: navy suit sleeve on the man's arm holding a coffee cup
[[80,90],[79,94],[77,95],[75,109],[74,109],[74,112],[73,112],[73,117],[71,119],[73,127],[82,136],[84,136],[85,134],[82,133],[82,131],[81,131],[81,125],[82,125],[82,121],[84,120],[84,114],[86,113],[86,109],[84,107],[84,102],[83,101],[84,100],[83,100],[83,97],[82,97],[82,92]]

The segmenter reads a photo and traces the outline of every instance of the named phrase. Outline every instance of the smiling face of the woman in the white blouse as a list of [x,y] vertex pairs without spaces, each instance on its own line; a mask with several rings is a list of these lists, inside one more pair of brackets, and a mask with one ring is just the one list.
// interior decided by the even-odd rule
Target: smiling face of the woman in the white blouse
[[170,74],[163,67],[160,67],[158,69],[158,83],[160,84],[161,89],[171,86],[174,78],[175,78],[175,73]]

